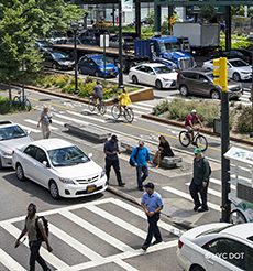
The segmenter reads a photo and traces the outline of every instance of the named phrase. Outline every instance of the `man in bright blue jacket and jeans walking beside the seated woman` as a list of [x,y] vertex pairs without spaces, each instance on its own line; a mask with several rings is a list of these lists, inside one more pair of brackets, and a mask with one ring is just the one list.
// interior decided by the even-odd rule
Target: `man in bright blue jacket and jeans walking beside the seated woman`
[[144,141],[139,141],[139,147],[134,148],[131,154],[131,159],[136,166],[136,174],[138,174],[138,189],[143,191],[143,182],[148,176],[148,169],[146,163],[146,158],[148,162],[152,164],[151,154],[147,151],[147,148],[144,147]]

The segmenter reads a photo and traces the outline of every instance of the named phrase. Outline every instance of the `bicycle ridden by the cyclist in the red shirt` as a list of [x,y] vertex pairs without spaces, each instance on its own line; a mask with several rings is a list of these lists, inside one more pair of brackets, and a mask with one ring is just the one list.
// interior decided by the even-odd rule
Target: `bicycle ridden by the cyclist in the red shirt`
[[187,131],[182,131],[179,133],[179,142],[184,147],[188,147],[190,143],[195,143],[202,152],[207,150],[208,142],[207,139],[200,134],[200,128],[197,129],[194,140],[191,141],[191,134]]

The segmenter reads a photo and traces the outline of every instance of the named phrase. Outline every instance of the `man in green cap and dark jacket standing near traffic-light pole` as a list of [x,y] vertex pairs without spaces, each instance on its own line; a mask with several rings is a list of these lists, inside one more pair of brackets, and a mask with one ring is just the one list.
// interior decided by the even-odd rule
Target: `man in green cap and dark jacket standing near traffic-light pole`
[[[189,192],[195,203],[194,210],[206,212],[208,210],[207,188],[209,183],[209,163],[202,156],[202,151],[199,148],[195,149],[194,154],[194,177],[189,186]],[[199,200],[198,193],[200,194],[202,204]],[[199,209],[200,206],[201,208]]]

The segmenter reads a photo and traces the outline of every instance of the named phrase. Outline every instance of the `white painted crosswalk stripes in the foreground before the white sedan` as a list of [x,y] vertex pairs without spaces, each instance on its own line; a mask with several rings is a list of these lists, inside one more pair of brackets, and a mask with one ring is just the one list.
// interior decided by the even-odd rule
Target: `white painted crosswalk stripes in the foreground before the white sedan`
[[[121,213],[125,212],[127,215],[122,219],[114,214],[111,214],[110,212],[107,212],[102,209],[103,204],[112,204],[116,205],[118,208],[120,207],[122,209]],[[84,230],[88,230],[91,235],[96,236],[97,239],[101,239],[105,243],[108,243],[108,246],[114,247],[119,252],[114,252],[113,254],[109,256],[102,256],[101,252],[97,252],[94,249],[90,248],[90,243],[87,241],[85,242],[82,238],[75,238],[72,232],[69,232],[69,228],[66,227],[66,230],[64,228],[64,225],[61,225],[61,228],[56,226],[56,220],[55,223],[50,221],[50,238],[57,238],[62,242],[66,243],[67,246],[72,247],[74,251],[77,251],[78,253],[82,254],[85,258],[88,258],[89,260],[84,260],[81,263],[77,264],[69,264],[65,261],[67,259],[59,259],[56,254],[54,254],[54,251],[52,253],[48,253],[48,251],[44,248],[41,247],[41,254],[45,259],[45,261],[54,267],[54,269],[58,271],[78,271],[78,270],[86,270],[90,268],[96,268],[96,267],[101,267],[102,264],[106,263],[114,263],[119,265],[122,270],[130,270],[130,271],[138,271],[134,267],[131,265],[131,263],[125,262],[125,259],[130,259],[133,257],[138,257],[143,254],[143,250],[140,248],[135,248],[135,245],[130,246],[129,243],[125,243],[122,241],[122,237],[119,237],[119,239],[116,236],[111,236],[108,232],[106,232],[102,228],[96,225],[92,225],[90,221],[86,220],[85,217],[79,217],[77,214],[75,214],[75,210],[80,210],[81,213],[86,214],[86,212],[91,212],[94,213],[95,216],[97,216],[97,219],[102,219],[102,220],[108,220],[116,225],[118,228],[122,228],[124,231],[130,232],[133,237],[139,237],[142,239],[146,238],[146,231],[142,230],[134,225],[131,224],[131,221],[128,219],[128,213],[132,213],[133,215],[136,215],[141,221],[143,219],[146,220],[146,216],[144,212],[139,207],[132,206],[129,203],[125,203],[121,199],[116,199],[116,198],[105,198],[105,199],[98,199],[95,202],[89,202],[89,203],[84,203],[84,204],[77,204],[77,205],[72,205],[72,206],[66,206],[63,208],[56,208],[56,209],[50,209],[40,213],[40,215],[50,217],[50,216],[56,216],[63,217],[67,219],[68,221],[72,221],[72,224],[75,224],[76,227],[73,227],[73,230],[75,231],[76,228],[81,227]],[[97,220],[96,219],[96,220]],[[21,230],[14,225],[16,223],[23,223],[24,217],[16,217],[8,220],[0,221],[0,229],[4,230],[9,235],[13,236],[16,238]],[[53,220],[53,219],[52,219]],[[174,239],[168,239],[168,241],[163,241],[156,246],[150,247],[150,249],[145,253],[151,253],[155,251],[160,251],[166,248],[172,248],[177,246],[177,238],[176,236],[182,235],[182,231],[172,226],[168,225],[162,220],[160,220],[160,227],[163,228],[164,230],[168,231],[167,235],[173,234],[175,236]],[[127,238],[127,237],[125,237]],[[132,238],[131,238],[132,239]],[[134,239],[133,239],[134,240]],[[127,241],[127,240],[125,240]],[[26,248],[29,247],[29,241],[25,240],[23,245]],[[53,245],[54,247],[54,245]],[[105,245],[103,245],[105,247]],[[59,249],[59,248],[58,248]],[[107,251],[107,248],[103,248]],[[55,249],[57,251],[57,248]],[[67,256],[66,256],[67,257]],[[18,259],[13,259],[11,254],[4,251],[4,246],[3,243],[0,245],[0,262],[11,271],[25,271],[28,270],[25,267],[22,267],[22,264],[19,263]]]

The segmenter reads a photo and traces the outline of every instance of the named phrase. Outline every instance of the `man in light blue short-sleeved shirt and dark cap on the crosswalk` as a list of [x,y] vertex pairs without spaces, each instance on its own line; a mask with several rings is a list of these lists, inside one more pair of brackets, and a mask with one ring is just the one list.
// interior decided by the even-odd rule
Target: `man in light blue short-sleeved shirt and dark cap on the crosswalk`
[[160,220],[160,212],[163,209],[164,204],[162,196],[154,191],[155,186],[153,183],[147,183],[144,187],[146,192],[142,196],[141,205],[147,216],[148,232],[142,249],[146,250],[151,246],[153,236],[155,237],[153,245],[163,241],[157,223]]

